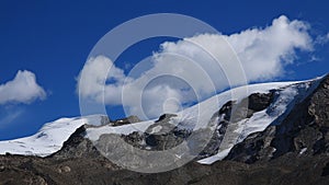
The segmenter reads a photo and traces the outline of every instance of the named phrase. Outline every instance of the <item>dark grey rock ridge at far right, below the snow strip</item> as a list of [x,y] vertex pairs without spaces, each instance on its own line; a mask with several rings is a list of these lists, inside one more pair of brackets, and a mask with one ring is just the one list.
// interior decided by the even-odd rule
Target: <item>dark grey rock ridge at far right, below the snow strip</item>
[[236,144],[226,160],[247,163],[269,161],[286,153],[329,154],[329,78],[295,105],[280,124],[269,126]]

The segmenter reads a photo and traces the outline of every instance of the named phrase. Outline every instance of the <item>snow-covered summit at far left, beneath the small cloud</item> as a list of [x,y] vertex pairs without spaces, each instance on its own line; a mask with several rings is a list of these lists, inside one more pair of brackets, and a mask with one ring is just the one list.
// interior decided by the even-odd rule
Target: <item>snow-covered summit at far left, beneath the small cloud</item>
[[35,135],[13,140],[0,141],[0,154],[49,155],[84,124],[99,125],[101,115],[87,117],[59,118],[45,124]]

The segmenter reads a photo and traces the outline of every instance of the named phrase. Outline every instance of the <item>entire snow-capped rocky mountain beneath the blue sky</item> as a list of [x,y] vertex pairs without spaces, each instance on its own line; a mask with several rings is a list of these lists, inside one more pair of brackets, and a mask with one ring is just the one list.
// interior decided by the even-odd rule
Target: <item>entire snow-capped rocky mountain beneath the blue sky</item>
[[[61,118],[33,136],[0,141],[0,184],[328,184],[328,105],[329,76],[237,88],[156,120]],[[185,150],[148,155],[144,164],[127,146],[150,153]],[[116,163],[178,164],[191,153],[192,161],[162,173]]]

